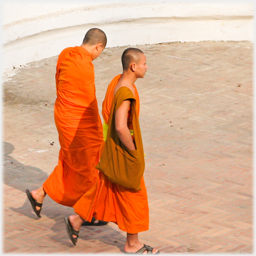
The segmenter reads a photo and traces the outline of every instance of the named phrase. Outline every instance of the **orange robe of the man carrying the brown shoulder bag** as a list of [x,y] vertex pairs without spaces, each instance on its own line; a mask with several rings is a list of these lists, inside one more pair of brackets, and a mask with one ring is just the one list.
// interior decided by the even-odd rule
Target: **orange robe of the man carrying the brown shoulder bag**
[[[103,102],[105,123],[108,122],[111,108],[109,102],[112,95],[114,95],[114,88],[119,78],[120,75],[116,76],[108,85],[107,94]],[[138,111],[139,95],[136,95],[136,93],[135,99]],[[89,205],[92,200],[94,200],[93,203]],[[122,231],[127,233],[139,233],[149,229],[148,196],[143,177],[141,190],[135,192],[121,185],[111,183],[107,176],[99,172],[98,185],[95,185],[88,193],[85,193],[75,204],[74,209],[78,215],[87,221],[91,221],[91,217],[94,216],[98,220],[116,223]]]

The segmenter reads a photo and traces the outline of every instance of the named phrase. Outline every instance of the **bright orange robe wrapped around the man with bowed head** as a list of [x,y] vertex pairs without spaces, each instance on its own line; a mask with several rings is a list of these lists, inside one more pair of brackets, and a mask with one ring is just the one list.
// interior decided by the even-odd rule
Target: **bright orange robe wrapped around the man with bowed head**
[[56,66],[55,124],[59,133],[59,161],[44,182],[57,203],[73,206],[97,184],[103,127],[95,97],[94,65],[82,47],[64,49]]

